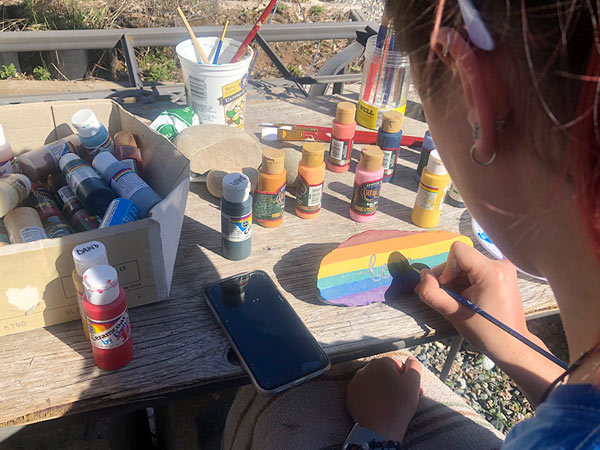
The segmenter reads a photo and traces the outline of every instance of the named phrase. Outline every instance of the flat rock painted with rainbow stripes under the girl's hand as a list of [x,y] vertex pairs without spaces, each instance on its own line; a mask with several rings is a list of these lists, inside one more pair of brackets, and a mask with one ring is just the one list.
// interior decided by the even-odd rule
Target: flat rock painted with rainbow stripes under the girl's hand
[[340,306],[414,296],[419,274],[409,264],[442,264],[455,241],[473,246],[468,237],[449,231],[365,231],[323,258],[317,275],[319,295]]

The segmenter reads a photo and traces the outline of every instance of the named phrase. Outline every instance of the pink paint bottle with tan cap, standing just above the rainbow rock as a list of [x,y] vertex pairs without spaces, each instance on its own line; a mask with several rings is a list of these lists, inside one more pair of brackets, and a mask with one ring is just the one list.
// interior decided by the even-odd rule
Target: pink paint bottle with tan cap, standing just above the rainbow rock
[[354,177],[350,217],[357,222],[372,222],[377,213],[383,181],[383,152],[376,145],[365,145]]

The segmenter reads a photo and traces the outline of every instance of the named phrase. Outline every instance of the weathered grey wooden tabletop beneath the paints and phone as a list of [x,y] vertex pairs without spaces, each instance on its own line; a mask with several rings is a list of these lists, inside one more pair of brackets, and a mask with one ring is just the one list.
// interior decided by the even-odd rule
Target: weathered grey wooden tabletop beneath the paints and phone
[[[329,125],[339,99],[256,96],[247,107],[247,129],[259,122]],[[173,105],[166,105],[166,107]],[[152,117],[165,105],[142,105]],[[407,118],[404,131],[422,136],[426,124]],[[354,155],[356,157],[356,154]],[[365,230],[420,230],[410,221],[417,182],[418,150],[400,153],[393,183],[382,190],[379,213],[371,224],[348,216],[353,173],[327,172],[323,212],[315,221],[294,214],[288,193],[282,226],[255,226],[253,252],[241,262],[221,257],[220,212],[203,184],[188,197],[171,298],[130,311],[135,356],[116,372],[94,365],[79,321],[0,338],[0,427],[23,425],[117,405],[145,405],[175,393],[218,388],[245,380],[227,359],[229,345],[201,295],[206,282],[262,269],[284,292],[304,323],[334,361],[409,347],[455,335],[454,329],[418,299],[343,308],[317,298],[320,260],[340,242]],[[473,238],[465,209],[446,206],[438,229]],[[520,279],[528,316],[556,311],[546,284]]]

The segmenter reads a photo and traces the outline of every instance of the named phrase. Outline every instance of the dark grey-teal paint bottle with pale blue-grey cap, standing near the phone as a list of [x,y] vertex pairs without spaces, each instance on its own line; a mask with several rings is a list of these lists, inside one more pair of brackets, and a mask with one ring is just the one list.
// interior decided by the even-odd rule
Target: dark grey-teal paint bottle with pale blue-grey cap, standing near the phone
[[250,179],[243,173],[230,173],[223,178],[221,238],[225,258],[240,261],[250,256],[252,196]]

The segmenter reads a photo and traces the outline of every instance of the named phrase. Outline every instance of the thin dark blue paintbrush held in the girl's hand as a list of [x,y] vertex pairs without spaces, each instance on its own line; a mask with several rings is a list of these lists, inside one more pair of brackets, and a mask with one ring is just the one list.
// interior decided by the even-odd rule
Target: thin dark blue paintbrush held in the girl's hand
[[[414,272],[420,274],[421,270],[429,269],[429,267],[426,264],[415,263],[415,264],[411,265],[410,262],[408,261],[408,259],[400,252],[393,252],[392,254],[390,254],[390,261],[391,262],[388,263],[388,270],[389,270],[390,274],[392,275],[392,277],[394,277],[394,281],[396,281],[396,279],[402,281],[404,279],[410,278],[409,273],[411,271],[414,271]],[[474,311],[475,313],[479,314],[481,317],[488,320],[489,322],[492,322],[498,328],[507,332],[514,338],[518,339],[523,344],[527,345],[529,348],[538,352],[540,355],[548,358],[554,364],[562,367],[563,369],[568,368],[568,365],[564,361],[561,361],[556,356],[554,356],[552,353],[544,350],[539,345],[531,342],[529,339],[527,339],[521,333],[513,330],[511,327],[506,325],[504,322],[501,322],[500,320],[496,319],[490,313],[488,313],[487,311],[484,311],[479,306],[477,306],[476,304],[471,302],[469,299],[463,297],[460,294],[457,294],[452,289],[449,289],[446,286],[440,285],[440,288],[443,289],[450,297],[452,297],[458,303],[460,303],[463,306],[466,306],[471,311]]]

